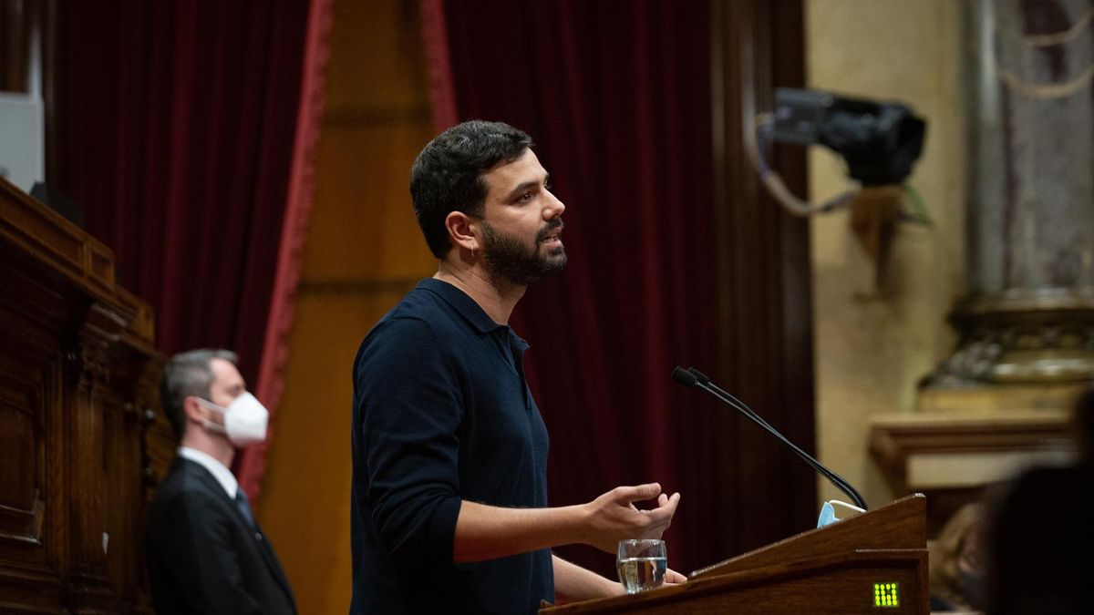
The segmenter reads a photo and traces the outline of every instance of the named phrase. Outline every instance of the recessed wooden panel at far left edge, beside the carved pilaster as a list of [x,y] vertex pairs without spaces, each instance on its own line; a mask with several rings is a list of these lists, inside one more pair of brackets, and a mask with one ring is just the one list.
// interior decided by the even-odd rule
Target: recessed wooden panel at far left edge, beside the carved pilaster
[[[60,401],[63,298],[5,253],[0,265],[0,605],[63,607]],[[24,292],[20,292],[24,291]]]

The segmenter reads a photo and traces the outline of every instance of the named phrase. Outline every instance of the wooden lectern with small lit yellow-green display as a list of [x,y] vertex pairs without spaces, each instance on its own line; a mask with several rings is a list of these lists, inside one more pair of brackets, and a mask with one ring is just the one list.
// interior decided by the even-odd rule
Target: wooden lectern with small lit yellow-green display
[[921,494],[697,570],[684,585],[539,613],[929,613]]

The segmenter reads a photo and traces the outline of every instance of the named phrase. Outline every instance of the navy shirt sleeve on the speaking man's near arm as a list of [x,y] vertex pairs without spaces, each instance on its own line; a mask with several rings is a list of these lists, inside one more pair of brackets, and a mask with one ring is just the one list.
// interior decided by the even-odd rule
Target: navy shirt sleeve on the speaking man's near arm
[[461,386],[430,326],[392,318],[354,368],[372,524],[397,561],[451,561],[459,514]]

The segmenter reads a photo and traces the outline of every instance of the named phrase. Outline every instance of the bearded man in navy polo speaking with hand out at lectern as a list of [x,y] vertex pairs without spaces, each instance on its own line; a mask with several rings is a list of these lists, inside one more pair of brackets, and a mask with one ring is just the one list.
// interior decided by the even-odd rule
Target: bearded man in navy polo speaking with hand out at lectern
[[547,508],[547,431],[527,344],[508,322],[528,285],[566,265],[566,206],[531,148],[511,126],[467,121],[414,164],[415,213],[439,264],[353,364],[351,613],[535,613],[556,590],[621,593],[550,547],[615,553],[622,538],[660,537],[676,511],[679,495],[657,484]]

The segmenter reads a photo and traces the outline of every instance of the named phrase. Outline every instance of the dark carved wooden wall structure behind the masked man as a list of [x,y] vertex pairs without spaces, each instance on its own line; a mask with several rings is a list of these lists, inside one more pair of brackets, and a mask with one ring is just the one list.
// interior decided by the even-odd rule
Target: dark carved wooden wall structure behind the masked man
[[150,611],[163,358],[113,270],[109,248],[0,179],[0,612]]

